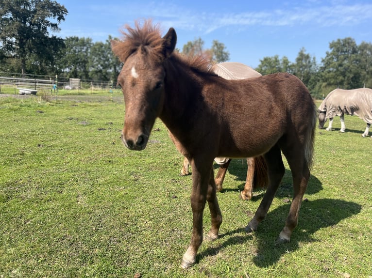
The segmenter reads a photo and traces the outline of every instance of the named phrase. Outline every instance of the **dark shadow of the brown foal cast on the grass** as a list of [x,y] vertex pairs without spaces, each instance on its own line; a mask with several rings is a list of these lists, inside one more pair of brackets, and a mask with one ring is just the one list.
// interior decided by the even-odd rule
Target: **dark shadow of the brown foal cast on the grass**
[[[270,211],[254,233],[245,232],[239,228],[220,235],[220,240],[226,237],[217,247],[208,247],[197,255],[197,262],[205,256],[215,256],[221,249],[231,245],[244,244],[253,236],[257,240],[252,261],[258,267],[270,267],[277,263],[285,253],[299,248],[300,243],[315,242],[313,234],[322,228],[334,227],[341,220],[358,214],[361,205],[355,202],[337,199],[318,199],[304,201],[300,211],[299,223],[293,231],[291,241],[275,245],[275,240],[284,225],[290,204],[283,204]],[[283,221],[277,221],[283,219]],[[243,235],[241,235],[243,233]],[[249,255],[249,254],[247,254]]]

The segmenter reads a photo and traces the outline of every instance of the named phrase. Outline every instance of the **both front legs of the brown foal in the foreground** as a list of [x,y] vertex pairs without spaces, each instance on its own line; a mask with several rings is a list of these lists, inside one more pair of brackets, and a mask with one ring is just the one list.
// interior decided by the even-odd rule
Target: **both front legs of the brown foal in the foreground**
[[207,168],[197,169],[195,163],[192,163],[191,209],[193,227],[190,245],[181,263],[183,269],[187,269],[195,263],[196,254],[203,242],[203,210],[206,201],[208,201],[212,218],[212,226],[207,234],[207,238],[213,240],[218,237],[222,216],[217,201],[216,185],[214,183],[211,164]]

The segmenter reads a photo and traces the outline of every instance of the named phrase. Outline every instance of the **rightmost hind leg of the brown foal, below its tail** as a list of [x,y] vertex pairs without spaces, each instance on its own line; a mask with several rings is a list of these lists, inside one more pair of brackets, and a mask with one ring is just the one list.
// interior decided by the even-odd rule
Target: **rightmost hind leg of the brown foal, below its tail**
[[279,234],[277,243],[289,242],[290,236],[294,228],[297,226],[302,198],[304,197],[307,182],[310,178],[310,170],[308,169],[303,156],[298,157],[298,154],[287,154],[285,151],[283,151],[283,153],[286,155],[289,167],[292,171],[294,195],[286,219],[286,224],[282,232]]

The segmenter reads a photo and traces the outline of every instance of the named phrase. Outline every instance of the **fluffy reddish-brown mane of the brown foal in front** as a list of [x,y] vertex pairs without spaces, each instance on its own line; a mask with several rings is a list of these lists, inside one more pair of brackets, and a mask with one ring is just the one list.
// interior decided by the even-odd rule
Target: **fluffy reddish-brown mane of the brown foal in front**
[[[165,49],[161,30],[159,25],[152,24],[152,20],[145,20],[142,25],[139,21],[135,21],[134,28],[125,25],[121,33],[123,34],[122,40],[112,44],[112,50],[121,62],[125,62],[130,55],[141,48],[149,55],[153,55],[152,59],[164,59]],[[193,71],[204,74],[212,73],[210,62],[203,56],[188,57],[174,51],[170,58],[180,62],[183,66],[190,67]]]

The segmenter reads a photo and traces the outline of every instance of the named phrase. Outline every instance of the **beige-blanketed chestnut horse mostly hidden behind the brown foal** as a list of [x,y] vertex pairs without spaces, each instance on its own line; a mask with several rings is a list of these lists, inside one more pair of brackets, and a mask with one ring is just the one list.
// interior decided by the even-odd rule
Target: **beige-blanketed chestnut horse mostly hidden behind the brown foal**
[[[262,76],[259,72],[253,68],[239,63],[239,62],[222,62],[213,65],[212,71],[218,76],[225,79],[245,79],[252,77]],[[173,137],[170,136],[172,139]],[[173,142],[175,140],[173,139]],[[222,190],[222,183],[225,179],[227,168],[230,165],[231,159],[228,157],[216,157],[215,162],[220,165],[218,173],[215,178],[217,191]],[[267,165],[263,156],[248,157],[247,158],[247,177],[244,185],[244,189],[240,192],[240,198],[243,200],[251,200],[253,196],[253,189],[256,187],[266,188],[268,184],[268,172]],[[189,175],[190,163],[187,158],[184,158],[184,162],[181,169],[181,175]]]

